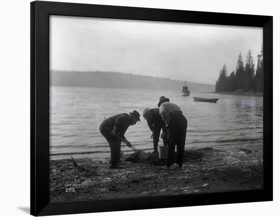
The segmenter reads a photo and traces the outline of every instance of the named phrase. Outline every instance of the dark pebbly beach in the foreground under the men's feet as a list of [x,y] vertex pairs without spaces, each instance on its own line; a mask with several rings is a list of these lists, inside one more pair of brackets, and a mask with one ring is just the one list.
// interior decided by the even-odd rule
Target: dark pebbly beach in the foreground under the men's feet
[[[165,160],[125,154],[121,166],[109,169],[109,159],[50,161],[50,201],[201,194],[263,188],[262,144],[187,149],[183,168],[166,170]],[[132,161],[132,162],[131,162]],[[134,162],[134,163],[133,163]]]

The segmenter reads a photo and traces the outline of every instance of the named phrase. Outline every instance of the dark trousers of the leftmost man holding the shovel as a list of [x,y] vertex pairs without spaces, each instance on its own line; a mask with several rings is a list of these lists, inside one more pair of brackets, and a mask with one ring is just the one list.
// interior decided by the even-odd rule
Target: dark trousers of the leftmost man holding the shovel
[[106,126],[106,123],[104,123],[104,121],[99,126],[100,133],[105,137],[110,146],[111,164],[117,164],[120,162],[122,141],[118,137],[111,135],[111,130],[113,129],[110,129],[108,126]]

